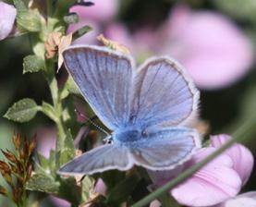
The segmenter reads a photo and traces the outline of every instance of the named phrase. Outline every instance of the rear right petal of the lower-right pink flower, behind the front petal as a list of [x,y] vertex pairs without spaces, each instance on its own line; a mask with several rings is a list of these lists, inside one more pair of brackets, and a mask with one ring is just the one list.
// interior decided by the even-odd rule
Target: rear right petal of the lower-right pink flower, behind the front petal
[[[218,148],[230,139],[231,137],[226,134],[211,136],[211,145]],[[253,167],[254,159],[252,153],[248,148],[238,143],[230,147],[226,153],[233,160],[233,168],[238,172],[239,177],[241,177],[242,184],[245,185],[250,177]]]

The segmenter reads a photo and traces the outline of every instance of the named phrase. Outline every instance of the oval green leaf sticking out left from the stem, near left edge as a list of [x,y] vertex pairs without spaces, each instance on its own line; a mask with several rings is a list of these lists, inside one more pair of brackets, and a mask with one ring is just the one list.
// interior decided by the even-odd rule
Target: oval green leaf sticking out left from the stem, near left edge
[[34,100],[25,98],[14,103],[6,112],[6,117],[9,120],[19,123],[30,121],[36,113],[41,110]]

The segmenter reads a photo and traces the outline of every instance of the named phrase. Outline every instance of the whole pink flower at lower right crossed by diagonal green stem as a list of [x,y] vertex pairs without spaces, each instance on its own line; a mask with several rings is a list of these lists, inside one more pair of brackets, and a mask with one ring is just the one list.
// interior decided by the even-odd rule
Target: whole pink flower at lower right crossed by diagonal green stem
[[[201,162],[229,139],[230,136],[227,135],[212,136],[211,147],[199,150],[186,164],[172,171],[150,171],[153,183],[160,186],[177,177],[179,172]],[[253,158],[250,151],[241,144],[235,144],[185,182],[171,189],[170,193],[184,205],[198,207],[215,205],[238,194],[250,177],[252,165]]]

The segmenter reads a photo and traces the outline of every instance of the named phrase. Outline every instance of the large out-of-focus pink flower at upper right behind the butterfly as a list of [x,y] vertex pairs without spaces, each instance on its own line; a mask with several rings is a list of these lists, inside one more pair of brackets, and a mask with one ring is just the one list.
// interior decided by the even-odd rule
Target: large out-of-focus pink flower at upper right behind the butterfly
[[250,40],[231,20],[210,11],[175,7],[159,42],[158,51],[177,58],[202,89],[228,86],[252,65]]

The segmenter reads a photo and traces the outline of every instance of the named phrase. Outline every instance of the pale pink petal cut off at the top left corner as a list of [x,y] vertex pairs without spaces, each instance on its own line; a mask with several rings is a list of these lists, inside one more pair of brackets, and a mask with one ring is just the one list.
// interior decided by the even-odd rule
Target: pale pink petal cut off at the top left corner
[[16,14],[14,6],[0,2],[0,40],[5,39],[11,32]]

